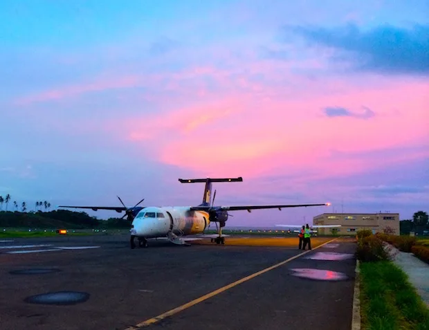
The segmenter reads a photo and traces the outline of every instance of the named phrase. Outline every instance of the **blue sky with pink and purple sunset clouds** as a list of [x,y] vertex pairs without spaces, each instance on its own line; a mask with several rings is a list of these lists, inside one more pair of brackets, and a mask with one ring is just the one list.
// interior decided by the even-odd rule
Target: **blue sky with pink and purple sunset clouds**
[[[429,212],[429,1],[0,2],[0,196]],[[3,206],[4,208],[4,206]],[[9,206],[10,208],[10,206]],[[116,212],[88,212],[100,219]]]

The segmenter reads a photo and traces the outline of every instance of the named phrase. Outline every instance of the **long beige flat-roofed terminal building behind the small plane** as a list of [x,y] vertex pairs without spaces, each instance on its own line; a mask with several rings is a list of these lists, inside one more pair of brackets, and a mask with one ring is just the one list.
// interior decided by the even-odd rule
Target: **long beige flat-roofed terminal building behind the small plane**
[[[399,235],[399,213],[323,213],[313,218],[315,225],[341,225],[339,235],[356,235],[360,229],[370,229],[375,234],[390,227]],[[332,228],[318,228],[320,235],[330,235]]]

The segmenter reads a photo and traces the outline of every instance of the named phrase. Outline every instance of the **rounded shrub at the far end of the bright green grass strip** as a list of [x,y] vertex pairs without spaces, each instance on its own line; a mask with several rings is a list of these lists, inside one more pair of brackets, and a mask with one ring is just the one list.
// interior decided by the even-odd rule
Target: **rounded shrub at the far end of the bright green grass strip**
[[371,235],[358,239],[356,258],[362,262],[377,262],[380,260],[390,260],[390,250],[381,239]]

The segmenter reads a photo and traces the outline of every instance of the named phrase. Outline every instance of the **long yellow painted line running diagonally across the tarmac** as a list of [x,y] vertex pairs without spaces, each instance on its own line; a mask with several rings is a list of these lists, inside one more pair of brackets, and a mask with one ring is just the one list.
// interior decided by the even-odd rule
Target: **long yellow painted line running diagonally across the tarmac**
[[219,295],[219,293],[227,291],[228,289],[230,289],[230,288],[232,288],[234,286],[237,286],[237,285],[239,285],[239,284],[241,284],[243,282],[246,282],[249,279],[253,279],[254,277],[262,275],[262,274],[264,274],[264,273],[266,273],[268,271],[272,271],[274,268],[277,268],[277,267],[280,267],[280,266],[282,266],[284,264],[287,264],[288,262],[291,262],[293,259],[299,258],[302,255],[305,255],[305,254],[307,254],[307,253],[309,253],[309,252],[311,252],[313,250],[316,250],[317,248],[320,248],[320,247],[324,246],[325,244],[331,243],[331,241],[335,241],[336,239],[338,239],[338,237],[334,238],[334,239],[331,239],[330,241],[327,241],[327,242],[325,242],[323,244],[320,244],[319,246],[316,246],[315,248],[313,248],[311,250],[307,250],[305,252],[300,253],[299,255],[295,255],[295,257],[291,257],[289,259],[286,259],[283,262],[280,262],[280,263],[275,264],[275,265],[273,265],[271,267],[265,268],[262,271],[259,271],[257,273],[253,273],[252,275],[248,275],[248,276],[246,276],[246,277],[244,277],[242,279],[239,279],[236,282],[233,282],[231,284],[223,286],[222,288],[218,288],[215,291],[212,291],[212,292],[210,292],[210,293],[208,293],[206,295],[203,295],[202,297],[199,297],[197,299],[192,300],[191,302],[188,302],[188,303],[183,304],[183,305],[181,305],[179,307],[176,307],[175,309],[172,309],[170,311],[162,313],[161,315],[155,316],[154,318],[149,318],[149,320],[145,320],[143,322],[140,322],[140,323],[136,324],[134,327],[128,327],[125,330],[133,330],[133,329],[148,327],[150,324],[154,324],[156,322],[159,322],[159,321],[161,321],[161,320],[163,320],[165,318],[168,318],[169,316],[172,316],[172,315],[174,315],[176,313],[179,313],[179,312],[181,312],[181,311],[183,311],[185,309],[188,309],[188,308],[190,308],[190,307],[192,307],[192,306],[194,306],[196,304],[199,304],[200,302],[203,302],[204,300],[208,300],[208,298],[214,297],[215,295]]

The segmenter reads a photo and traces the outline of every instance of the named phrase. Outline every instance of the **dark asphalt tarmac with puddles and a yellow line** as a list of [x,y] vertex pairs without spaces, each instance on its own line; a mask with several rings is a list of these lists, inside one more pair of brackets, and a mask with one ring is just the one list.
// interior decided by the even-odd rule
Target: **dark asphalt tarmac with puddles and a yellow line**
[[228,239],[2,241],[1,329],[351,329],[354,239],[313,239],[311,251]]

